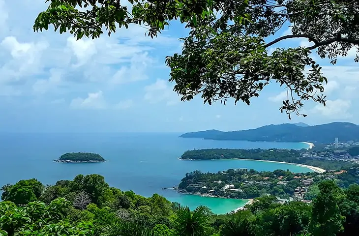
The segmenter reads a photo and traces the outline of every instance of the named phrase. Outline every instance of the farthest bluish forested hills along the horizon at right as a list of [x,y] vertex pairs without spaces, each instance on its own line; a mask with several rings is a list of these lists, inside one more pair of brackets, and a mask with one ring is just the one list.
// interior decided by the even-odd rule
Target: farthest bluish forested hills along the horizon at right
[[359,126],[348,122],[333,122],[313,126],[296,124],[271,124],[256,129],[223,132],[207,130],[185,133],[181,138],[202,138],[211,140],[245,140],[269,142],[311,142],[328,144],[335,138],[340,142],[359,141]]

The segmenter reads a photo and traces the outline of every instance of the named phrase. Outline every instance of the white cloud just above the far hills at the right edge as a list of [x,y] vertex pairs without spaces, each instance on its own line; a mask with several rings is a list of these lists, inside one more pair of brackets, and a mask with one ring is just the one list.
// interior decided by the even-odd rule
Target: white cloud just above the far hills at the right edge
[[351,118],[352,115],[349,113],[349,109],[351,107],[351,102],[349,100],[328,100],[326,102],[326,106],[322,104],[317,104],[309,110],[310,113],[319,114],[326,118],[331,119],[345,119]]

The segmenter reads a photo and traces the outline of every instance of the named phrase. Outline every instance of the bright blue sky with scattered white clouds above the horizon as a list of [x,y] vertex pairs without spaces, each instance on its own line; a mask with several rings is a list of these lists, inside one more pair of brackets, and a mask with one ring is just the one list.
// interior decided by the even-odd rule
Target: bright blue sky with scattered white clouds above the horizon
[[[306,102],[289,120],[279,112],[284,88],[271,84],[251,105],[181,102],[168,82],[165,57],[181,52],[178,22],[155,39],[131,25],[110,37],[84,38],[53,30],[33,32],[44,0],[0,0],[0,132],[187,132],[256,128],[268,124],[334,121],[359,123],[355,49],[333,66],[319,59],[328,78],[327,106]],[[289,28],[277,35],[290,33]],[[291,39],[275,47],[309,45]],[[274,50],[275,48],[269,48]]]

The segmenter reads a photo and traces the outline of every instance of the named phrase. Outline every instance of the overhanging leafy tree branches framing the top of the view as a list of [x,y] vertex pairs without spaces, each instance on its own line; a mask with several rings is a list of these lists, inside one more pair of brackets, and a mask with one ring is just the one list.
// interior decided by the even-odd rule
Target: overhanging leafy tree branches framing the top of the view
[[[250,104],[271,82],[287,89],[281,112],[300,114],[303,101],[325,105],[326,77],[312,52],[332,64],[359,44],[359,3],[352,0],[46,0],[33,29],[54,26],[77,39],[100,37],[132,24],[155,37],[179,20],[190,29],[181,54],[169,56],[170,81],[181,100],[201,95],[205,103],[233,98]],[[280,30],[291,33],[274,37]],[[308,47],[269,48],[290,39]],[[358,54],[355,61],[358,62]],[[308,69],[306,73],[305,70]]]

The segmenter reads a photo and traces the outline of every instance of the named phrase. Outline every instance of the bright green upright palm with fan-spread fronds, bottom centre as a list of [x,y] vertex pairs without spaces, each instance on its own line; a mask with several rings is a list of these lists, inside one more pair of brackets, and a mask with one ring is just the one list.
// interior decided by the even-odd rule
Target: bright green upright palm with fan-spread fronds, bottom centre
[[173,224],[179,236],[205,236],[208,220],[207,207],[196,207],[194,211],[188,207],[179,207]]

